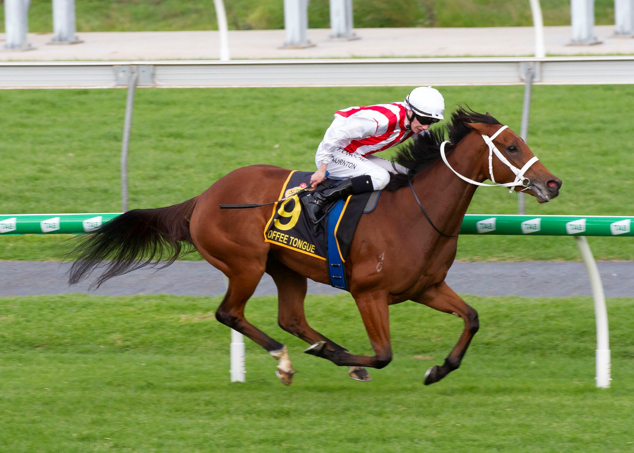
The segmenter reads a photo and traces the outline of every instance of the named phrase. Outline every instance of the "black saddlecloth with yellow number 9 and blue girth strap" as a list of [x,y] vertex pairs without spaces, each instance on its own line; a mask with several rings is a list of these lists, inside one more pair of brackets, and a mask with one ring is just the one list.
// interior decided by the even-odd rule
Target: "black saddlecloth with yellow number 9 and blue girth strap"
[[312,172],[292,171],[280,192],[282,202],[273,205],[273,212],[264,228],[264,240],[298,253],[323,259],[333,287],[349,291],[345,263],[354,231],[361,214],[372,212],[380,191],[350,195],[323,207],[326,213],[314,228],[302,209],[300,197],[308,190],[326,190],[337,183],[327,179],[315,189],[309,187]]

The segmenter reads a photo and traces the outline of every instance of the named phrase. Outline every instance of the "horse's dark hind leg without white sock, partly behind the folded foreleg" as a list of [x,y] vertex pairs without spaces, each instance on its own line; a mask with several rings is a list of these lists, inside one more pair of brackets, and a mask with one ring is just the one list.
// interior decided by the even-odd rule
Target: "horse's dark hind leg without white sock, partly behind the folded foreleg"
[[[273,258],[269,258],[266,272],[271,275],[278,288],[278,324],[288,333],[311,343],[304,352],[323,358],[349,354],[345,348],[308,325],[304,312],[306,277]],[[348,375],[356,381],[367,382],[371,379],[365,367],[351,366]]]

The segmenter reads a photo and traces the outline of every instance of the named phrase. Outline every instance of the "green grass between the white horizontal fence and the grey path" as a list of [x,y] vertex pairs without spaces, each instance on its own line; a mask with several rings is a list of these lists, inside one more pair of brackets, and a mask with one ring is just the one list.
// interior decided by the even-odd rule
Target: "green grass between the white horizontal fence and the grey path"
[[[139,89],[129,159],[131,208],[179,203],[249,164],[314,167],[335,110],[403,99],[408,88]],[[448,109],[468,102],[519,131],[523,88],[444,87]],[[126,91],[0,91],[0,213],[120,211]],[[564,181],[529,214],[632,214],[628,112],[633,86],[535,86],[528,143]],[[389,157],[389,153],[382,153]],[[469,213],[517,213],[517,196],[480,188]],[[0,237],[0,259],[59,259],[62,237]],[[631,238],[590,238],[598,259],[633,259]],[[196,255],[190,255],[196,259]],[[469,237],[458,259],[574,260],[565,237]]]

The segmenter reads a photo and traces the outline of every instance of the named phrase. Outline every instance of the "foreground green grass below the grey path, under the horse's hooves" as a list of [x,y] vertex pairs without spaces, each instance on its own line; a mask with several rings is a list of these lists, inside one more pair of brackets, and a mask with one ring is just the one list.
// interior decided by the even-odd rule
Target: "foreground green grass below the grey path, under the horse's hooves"
[[[626,452],[633,449],[634,299],[608,302],[612,387],[594,387],[590,298],[477,298],[462,367],[422,376],[462,321],[414,303],[391,308],[394,360],[358,383],[302,354],[276,325],[276,300],[247,317],[288,345],[289,388],[247,340],[247,383],[229,382],[219,298],[65,295],[3,298],[0,450],[11,452]],[[311,325],[371,353],[347,294],[309,296]],[[420,358],[422,357],[422,358]]]

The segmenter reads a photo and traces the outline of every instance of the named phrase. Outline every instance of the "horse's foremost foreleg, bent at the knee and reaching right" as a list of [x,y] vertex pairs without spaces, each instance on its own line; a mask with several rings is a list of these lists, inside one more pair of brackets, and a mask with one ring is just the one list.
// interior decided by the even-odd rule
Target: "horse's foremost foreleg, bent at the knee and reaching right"
[[451,313],[461,317],[465,322],[465,328],[458,339],[458,343],[451,350],[450,355],[444,360],[444,364],[434,365],[425,373],[424,384],[429,385],[443,379],[451,371],[460,367],[460,362],[469,348],[469,343],[478,331],[479,321],[477,312],[458,296],[445,282],[426,289],[414,302],[427,305],[439,312]]

